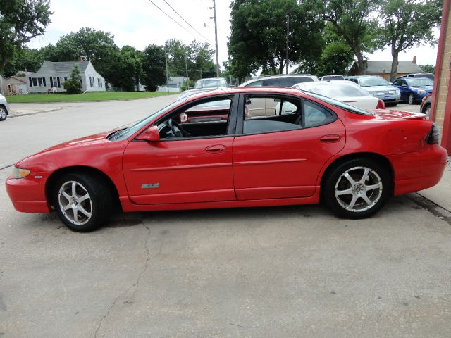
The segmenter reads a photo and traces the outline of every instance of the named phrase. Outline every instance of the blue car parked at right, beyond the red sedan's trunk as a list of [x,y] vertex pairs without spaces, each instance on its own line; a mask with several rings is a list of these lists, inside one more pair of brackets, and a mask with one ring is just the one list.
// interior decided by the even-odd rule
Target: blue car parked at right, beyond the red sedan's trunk
[[400,77],[393,81],[393,85],[400,89],[400,101],[409,104],[420,103],[433,89],[433,81],[427,77]]

